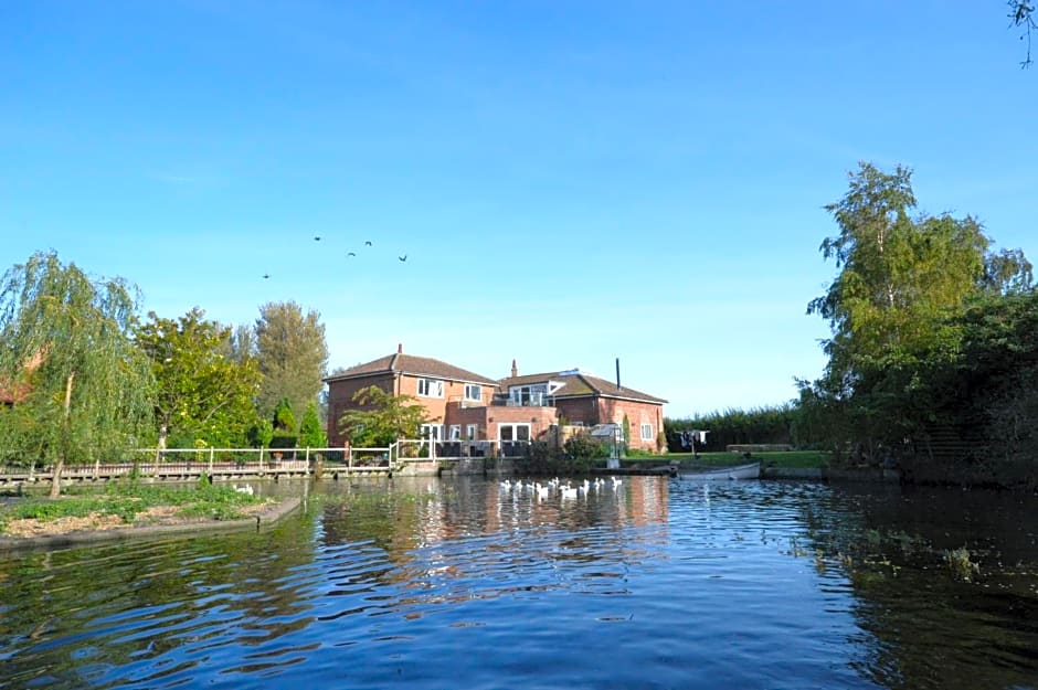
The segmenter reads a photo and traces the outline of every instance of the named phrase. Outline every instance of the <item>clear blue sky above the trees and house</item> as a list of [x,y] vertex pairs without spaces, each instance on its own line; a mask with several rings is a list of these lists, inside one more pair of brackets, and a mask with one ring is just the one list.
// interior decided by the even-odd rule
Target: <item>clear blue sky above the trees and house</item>
[[1038,66],[1006,11],[0,2],[0,269],[54,250],[230,325],[295,300],[330,369],[618,358],[667,416],[784,403],[825,364],[805,310],[859,160],[1038,261]]

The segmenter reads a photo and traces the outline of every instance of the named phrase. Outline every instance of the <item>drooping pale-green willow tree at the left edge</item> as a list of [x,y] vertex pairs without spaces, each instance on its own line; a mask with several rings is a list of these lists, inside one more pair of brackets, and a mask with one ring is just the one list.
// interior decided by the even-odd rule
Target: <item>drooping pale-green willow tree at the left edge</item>
[[39,252],[0,286],[0,448],[54,467],[120,457],[151,433],[153,380],[134,346],[136,289]]

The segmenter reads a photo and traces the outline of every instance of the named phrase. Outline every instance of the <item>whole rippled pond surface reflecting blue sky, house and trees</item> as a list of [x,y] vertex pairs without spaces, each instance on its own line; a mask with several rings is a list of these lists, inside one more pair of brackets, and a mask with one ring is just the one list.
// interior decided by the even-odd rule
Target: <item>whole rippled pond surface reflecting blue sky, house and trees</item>
[[0,555],[0,688],[1038,688],[1034,497],[260,486],[304,488],[271,531]]

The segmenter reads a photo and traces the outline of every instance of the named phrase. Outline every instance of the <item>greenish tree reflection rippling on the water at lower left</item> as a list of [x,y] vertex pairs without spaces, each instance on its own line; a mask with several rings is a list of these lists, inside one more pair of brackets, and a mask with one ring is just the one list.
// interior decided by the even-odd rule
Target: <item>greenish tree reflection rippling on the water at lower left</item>
[[313,516],[296,513],[262,533],[129,541],[0,561],[4,682],[22,687],[50,678],[83,687],[80,669],[100,649],[112,673],[141,665],[172,673],[197,664],[187,661],[186,648],[229,636],[237,644],[255,636],[258,644],[308,625],[292,572],[313,561],[311,534]]

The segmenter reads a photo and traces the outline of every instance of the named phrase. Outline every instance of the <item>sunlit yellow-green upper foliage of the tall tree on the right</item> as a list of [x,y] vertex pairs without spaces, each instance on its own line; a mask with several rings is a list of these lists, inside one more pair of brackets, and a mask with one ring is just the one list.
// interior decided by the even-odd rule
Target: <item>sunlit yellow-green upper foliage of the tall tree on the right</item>
[[935,325],[986,279],[989,241],[981,225],[970,216],[912,219],[914,208],[911,171],[887,173],[871,163],[860,163],[848,192],[826,206],[839,234],[820,251],[840,270],[807,311],[833,328],[825,343],[833,383],[846,386],[862,365],[953,337]]

